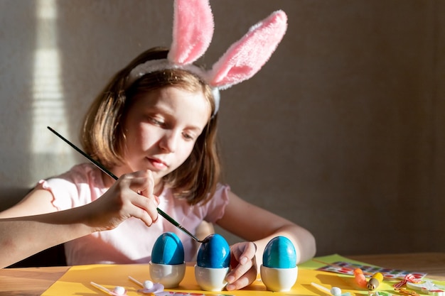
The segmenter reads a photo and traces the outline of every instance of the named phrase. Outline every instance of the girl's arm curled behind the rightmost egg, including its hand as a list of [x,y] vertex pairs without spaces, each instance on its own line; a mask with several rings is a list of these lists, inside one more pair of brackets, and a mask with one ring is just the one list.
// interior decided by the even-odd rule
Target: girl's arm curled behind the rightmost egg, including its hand
[[[228,275],[229,283],[232,282],[230,275],[233,276],[233,283],[230,283],[233,286],[228,285],[228,289],[239,289],[252,283],[257,276],[257,266],[262,264],[264,248],[275,236],[286,236],[294,243],[297,263],[313,258],[316,253],[315,239],[309,231],[282,216],[240,199],[232,192],[229,192],[225,214],[217,224],[254,243],[237,243],[232,246],[231,251],[239,264]],[[256,258],[256,262],[252,261],[253,258]]]

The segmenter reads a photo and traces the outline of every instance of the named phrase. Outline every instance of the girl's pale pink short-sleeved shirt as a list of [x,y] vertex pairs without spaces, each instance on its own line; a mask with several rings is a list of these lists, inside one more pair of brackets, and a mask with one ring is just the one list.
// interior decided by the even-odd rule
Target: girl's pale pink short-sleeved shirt
[[[90,163],[76,165],[58,177],[42,180],[38,183],[38,187],[52,192],[53,204],[58,210],[88,204],[108,189],[102,182],[101,171]],[[229,191],[230,187],[227,185],[218,185],[215,195],[208,203],[191,206],[186,200],[173,197],[173,192],[165,188],[159,196],[161,201],[159,209],[194,233],[201,221],[214,223],[223,216]],[[139,219],[130,218],[116,229],[68,241],[65,243],[67,263],[68,265],[149,263],[154,242],[167,231],[178,235],[184,246],[185,260],[192,261],[198,243],[159,216],[156,223],[150,227]]]

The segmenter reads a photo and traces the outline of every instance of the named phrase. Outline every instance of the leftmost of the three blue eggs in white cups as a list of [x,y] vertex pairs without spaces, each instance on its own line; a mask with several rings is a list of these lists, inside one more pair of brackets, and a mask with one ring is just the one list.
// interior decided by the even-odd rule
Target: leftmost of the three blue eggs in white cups
[[176,234],[166,232],[156,239],[151,251],[151,262],[166,265],[184,263],[184,247]]

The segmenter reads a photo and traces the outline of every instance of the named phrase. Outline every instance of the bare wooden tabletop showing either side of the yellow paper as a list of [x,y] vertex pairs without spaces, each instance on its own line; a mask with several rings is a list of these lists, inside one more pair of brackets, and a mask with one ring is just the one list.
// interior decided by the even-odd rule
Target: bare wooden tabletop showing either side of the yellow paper
[[[345,257],[385,268],[424,272],[428,273],[427,278],[445,280],[445,253],[401,253]],[[4,268],[0,270],[0,296],[41,295],[68,268],[68,266]]]

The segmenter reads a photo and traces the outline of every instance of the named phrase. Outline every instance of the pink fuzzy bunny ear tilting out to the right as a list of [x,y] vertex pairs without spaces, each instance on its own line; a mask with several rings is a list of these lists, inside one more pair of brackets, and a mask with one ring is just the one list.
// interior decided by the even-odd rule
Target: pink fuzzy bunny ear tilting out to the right
[[274,53],[286,29],[287,16],[281,10],[252,26],[215,62],[209,73],[209,84],[227,89],[255,75]]

